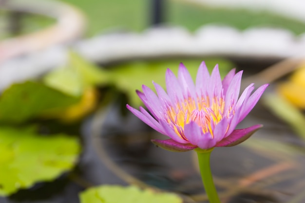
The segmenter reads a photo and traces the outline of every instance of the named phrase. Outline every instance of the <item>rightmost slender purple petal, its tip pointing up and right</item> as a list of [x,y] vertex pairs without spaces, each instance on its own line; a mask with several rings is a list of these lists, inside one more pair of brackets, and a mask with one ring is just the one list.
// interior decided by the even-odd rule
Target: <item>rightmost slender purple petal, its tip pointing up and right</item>
[[262,85],[249,97],[247,102],[244,102],[245,104],[242,107],[242,111],[239,116],[239,122],[242,121],[248,115],[248,113],[254,108],[254,106],[261,98],[262,94],[264,93],[264,91],[268,86],[269,84]]

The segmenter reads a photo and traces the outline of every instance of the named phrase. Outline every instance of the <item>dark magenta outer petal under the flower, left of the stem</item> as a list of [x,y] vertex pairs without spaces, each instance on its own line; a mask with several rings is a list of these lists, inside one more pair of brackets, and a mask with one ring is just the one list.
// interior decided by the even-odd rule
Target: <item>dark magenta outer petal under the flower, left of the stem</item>
[[166,150],[173,151],[173,152],[184,152],[184,151],[190,151],[194,148],[197,148],[197,146],[194,146],[190,143],[182,144],[182,143],[178,143],[172,139],[152,140],[152,143],[155,144],[157,147],[164,148]]

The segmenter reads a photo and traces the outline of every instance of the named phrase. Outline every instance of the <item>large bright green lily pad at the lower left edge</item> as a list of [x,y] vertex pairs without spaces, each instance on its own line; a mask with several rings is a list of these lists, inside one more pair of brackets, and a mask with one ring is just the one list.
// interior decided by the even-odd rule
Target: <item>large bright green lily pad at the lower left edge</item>
[[41,136],[29,129],[1,127],[0,196],[55,179],[75,165],[79,152],[76,137]]

